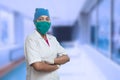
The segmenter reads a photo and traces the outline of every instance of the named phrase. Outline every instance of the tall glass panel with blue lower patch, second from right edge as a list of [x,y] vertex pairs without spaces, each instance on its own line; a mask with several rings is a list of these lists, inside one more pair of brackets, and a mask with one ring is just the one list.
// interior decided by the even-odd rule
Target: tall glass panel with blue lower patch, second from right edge
[[110,0],[104,0],[99,6],[98,16],[98,48],[106,56],[110,56]]

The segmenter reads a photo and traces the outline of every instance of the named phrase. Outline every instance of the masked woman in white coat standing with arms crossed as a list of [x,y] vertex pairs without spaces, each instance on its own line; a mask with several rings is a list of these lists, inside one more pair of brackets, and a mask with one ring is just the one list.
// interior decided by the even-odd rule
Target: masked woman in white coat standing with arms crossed
[[57,69],[69,57],[56,38],[47,34],[51,25],[47,9],[36,8],[34,24],[36,30],[25,41],[27,80],[60,80]]

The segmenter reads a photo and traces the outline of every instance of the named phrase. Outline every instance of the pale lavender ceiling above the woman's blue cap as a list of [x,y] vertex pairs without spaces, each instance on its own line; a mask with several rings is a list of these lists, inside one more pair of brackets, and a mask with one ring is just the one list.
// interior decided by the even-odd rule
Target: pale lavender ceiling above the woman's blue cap
[[51,19],[63,24],[72,23],[86,0],[1,0],[3,5],[33,18],[35,8],[49,9]]

